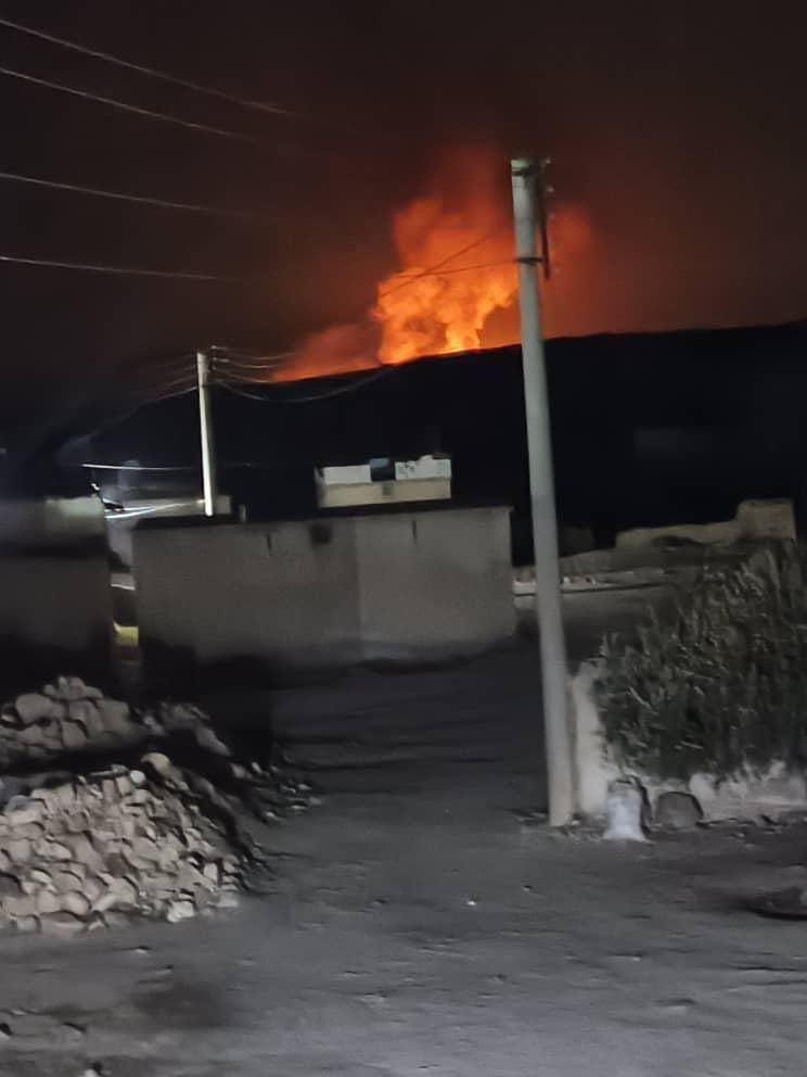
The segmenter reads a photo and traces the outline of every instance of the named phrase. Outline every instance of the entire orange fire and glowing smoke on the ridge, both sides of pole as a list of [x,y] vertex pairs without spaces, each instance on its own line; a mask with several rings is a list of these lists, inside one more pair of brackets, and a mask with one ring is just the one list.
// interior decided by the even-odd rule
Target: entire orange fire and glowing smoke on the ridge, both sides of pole
[[[281,377],[342,373],[517,341],[517,274],[500,164],[452,159],[435,194],[397,211],[399,268],[376,286],[367,320],[309,337]],[[587,215],[577,206],[555,207],[550,236],[553,256],[577,263],[591,241]],[[549,287],[553,302],[545,328],[551,335],[574,332],[580,311],[575,281],[564,277],[560,287],[554,280]]]

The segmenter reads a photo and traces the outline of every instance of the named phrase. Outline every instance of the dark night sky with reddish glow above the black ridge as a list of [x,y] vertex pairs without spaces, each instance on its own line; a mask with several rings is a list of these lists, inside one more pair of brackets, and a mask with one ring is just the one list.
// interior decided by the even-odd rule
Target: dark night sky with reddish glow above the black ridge
[[562,259],[556,332],[805,316],[802,8],[2,0],[5,17],[300,113],[248,112],[0,28],[2,66],[261,143],[0,75],[2,168],[273,218],[0,182],[0,254],[240,278],[0,266],[7,422],[126,398],[200,343],[283,351],[361,317],[395,268],[392,211],[454,151],[500,156],[502,199],[510,154],[552,155],[559,206],[588,232]]

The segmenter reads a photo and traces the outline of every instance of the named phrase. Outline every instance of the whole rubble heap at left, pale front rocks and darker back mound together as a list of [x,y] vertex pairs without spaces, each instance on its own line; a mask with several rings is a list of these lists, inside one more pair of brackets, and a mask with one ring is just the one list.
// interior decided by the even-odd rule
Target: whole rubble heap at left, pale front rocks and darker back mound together
[[134,711],[78,677],[0,708],[0,927],[54,935],[234,904],[256,861],[239,808],[267,819],[282,788],[197,708]]

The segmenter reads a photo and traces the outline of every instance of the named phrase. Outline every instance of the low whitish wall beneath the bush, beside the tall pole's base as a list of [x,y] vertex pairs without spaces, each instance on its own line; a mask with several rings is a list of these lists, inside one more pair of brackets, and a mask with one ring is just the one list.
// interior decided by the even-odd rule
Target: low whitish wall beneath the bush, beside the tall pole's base
[[[625,772],[609,751],[603,735],[594,682],[599,661],[584,662],[571,677],[572,744],[576,783],[576,808],[592,819],[605,815],[609,786]],[[807,811],[807,775],[772,764],[763,774],[736,774],[718,781],[710,774],[694,774],[689,782],[659,782],[630,771],[644,787],[651,806],[663,793],[689,793],[696,798],[706,822],[727,819],[776,819],[793,811]]]

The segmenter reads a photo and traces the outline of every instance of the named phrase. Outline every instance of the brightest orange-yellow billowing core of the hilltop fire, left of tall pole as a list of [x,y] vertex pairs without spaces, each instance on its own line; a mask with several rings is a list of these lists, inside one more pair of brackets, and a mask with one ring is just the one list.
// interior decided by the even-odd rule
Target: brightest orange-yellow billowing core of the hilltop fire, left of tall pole
[[481,347],[488,317],[517,288],[507,221],[486,204],[448,211],[422,199],[395,215],[394,236],[404,268],[377,287],[379,360]]

